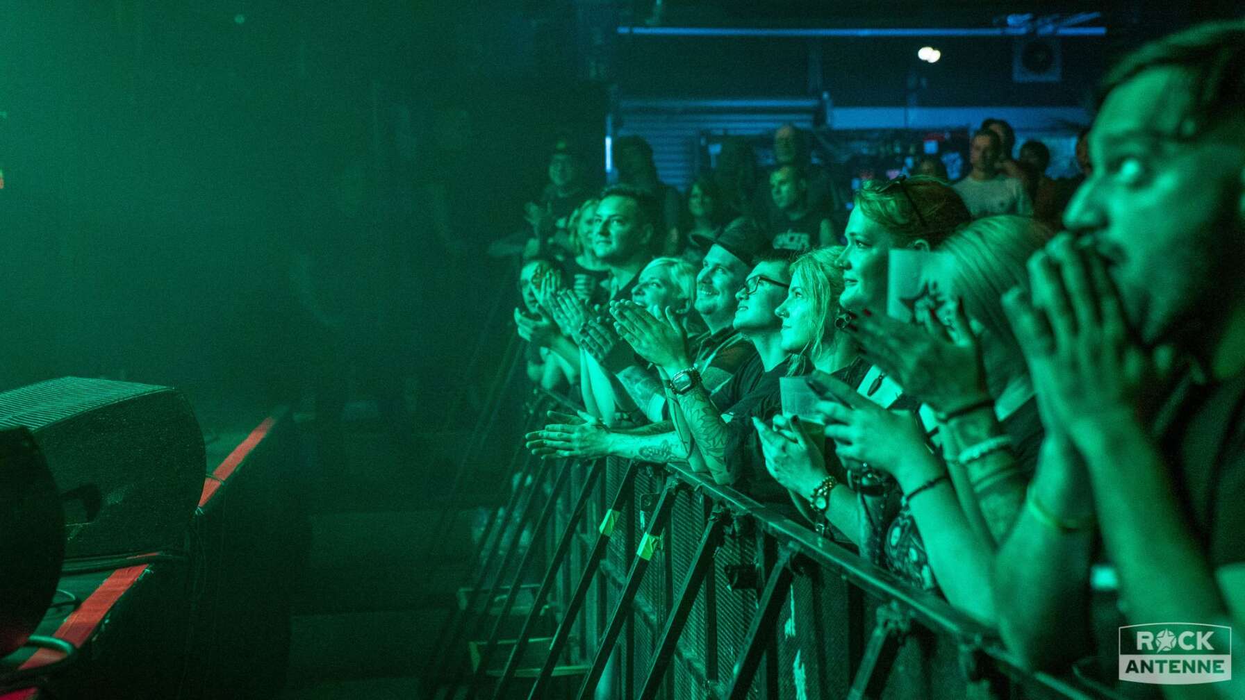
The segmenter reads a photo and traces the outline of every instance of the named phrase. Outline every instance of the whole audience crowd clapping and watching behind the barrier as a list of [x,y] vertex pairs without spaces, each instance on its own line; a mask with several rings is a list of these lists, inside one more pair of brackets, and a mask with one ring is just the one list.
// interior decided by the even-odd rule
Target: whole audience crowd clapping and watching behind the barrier
[[[527,446],[788,508],[1036,668],[1111,681],[1120,625],[1245,620],[1245,22],[1130,54],[1082,142],[1062,188],[986,120],[960,182],[921,159],[850,197],[789,125],[768,179],[728,142],[686,197],[639,137],[591,197],[559,142],[494,245],[529,377],[581,406]],[[915,320],[905,250],[954,268]]]

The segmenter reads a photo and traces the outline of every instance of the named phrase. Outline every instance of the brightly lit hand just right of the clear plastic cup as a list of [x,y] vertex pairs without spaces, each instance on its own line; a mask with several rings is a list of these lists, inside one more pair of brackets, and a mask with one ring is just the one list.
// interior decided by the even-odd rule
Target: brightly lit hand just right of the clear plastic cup
[[868,465],[900,482],[906,470],[925,466],[929,447],[916,416],[888,411],[838,379],[828,377],[823,385],[832,400],[818,401],[815,412],[825,421],[825,437],[834,441],[840,460]]

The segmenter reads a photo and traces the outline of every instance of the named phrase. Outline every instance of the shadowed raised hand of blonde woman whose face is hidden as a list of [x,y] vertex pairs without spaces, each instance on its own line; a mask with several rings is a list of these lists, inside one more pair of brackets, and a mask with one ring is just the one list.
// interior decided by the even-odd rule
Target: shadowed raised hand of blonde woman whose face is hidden
[[969,328],[964,304],[955,301],[954,310],[954,334],[929,310],[920,324],[867,310],[844,330],[862,356],[894,377],[905,394],[950,411],[989,396],[981,344]]

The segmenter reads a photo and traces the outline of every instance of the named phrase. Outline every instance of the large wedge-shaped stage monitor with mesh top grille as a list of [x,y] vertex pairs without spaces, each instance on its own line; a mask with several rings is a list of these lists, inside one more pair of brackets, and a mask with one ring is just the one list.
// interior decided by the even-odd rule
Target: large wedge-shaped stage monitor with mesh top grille
[[203,433],[166,386],[62,377],[0,394],[30,428],[65,509],[65,557],[182,549],[203,492]]

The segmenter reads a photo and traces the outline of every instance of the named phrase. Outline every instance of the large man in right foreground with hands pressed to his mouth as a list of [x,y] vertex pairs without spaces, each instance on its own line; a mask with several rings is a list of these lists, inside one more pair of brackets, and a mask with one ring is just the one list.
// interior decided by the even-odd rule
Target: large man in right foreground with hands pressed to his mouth
[[[1097,651],[1114,681],[1125,620],[1245,628],[1243,66],[1235,21],[1111,71],[1064,214],[1079,238],[1030,262],[1032,299],[1006,298],[1047,432],[994,588],[1031,664]],[[1162,689],[1240,698],[1239,683]]]

